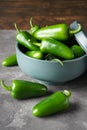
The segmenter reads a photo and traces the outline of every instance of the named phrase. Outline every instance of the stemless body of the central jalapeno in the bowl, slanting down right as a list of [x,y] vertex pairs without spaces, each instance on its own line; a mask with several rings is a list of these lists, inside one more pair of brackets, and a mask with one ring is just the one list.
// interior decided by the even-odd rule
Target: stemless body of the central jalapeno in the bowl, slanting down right
[[58,56],[66,60],[74,58],[74,54],[68,46],[52,38],[44,38],[42,40],[40,51],[42,53],[53,54],[54,56]]

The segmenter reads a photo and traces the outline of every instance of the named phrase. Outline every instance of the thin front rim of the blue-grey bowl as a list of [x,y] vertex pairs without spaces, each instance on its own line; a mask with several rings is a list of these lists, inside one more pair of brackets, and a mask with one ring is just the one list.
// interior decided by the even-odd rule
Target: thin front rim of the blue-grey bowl
[[[43,59],[35,59],[35,58],[32,58],[32,57],[29,57],[27,56],[26,54],[24,54],[18,47],[19,43],[16,43],[16,49],[18,49],[18,51],[26,58],[29,58],[29,59],[32,59],[32,60],[35,60],[35,61],[41,61],[41,62],[47,62],[47,63],[59,63],[59,62],[56,62],[56,61],[49,61],[49,60],[43,60]],[[78,58],[75,58],[75,59],[71,59],[71,60],[61,60],[63,63],[69,63],[69,62],[73,62],[73,61],[78,61],[78,60],[81,60],[83,59],[84,57],[86,57],[87,54],[84,54],[83,56],[81,57],[78,57]]]

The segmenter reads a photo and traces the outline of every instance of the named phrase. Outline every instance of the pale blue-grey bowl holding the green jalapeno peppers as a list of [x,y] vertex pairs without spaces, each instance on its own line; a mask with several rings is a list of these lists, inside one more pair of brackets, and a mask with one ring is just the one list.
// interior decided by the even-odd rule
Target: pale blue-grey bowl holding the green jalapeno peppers
[[64,83],[82,75],[87,69],[87,54],[73,60],[58,62],[37,60],[26,56],[16,44],[16,55],[20,69],[28,76],[48,83]]

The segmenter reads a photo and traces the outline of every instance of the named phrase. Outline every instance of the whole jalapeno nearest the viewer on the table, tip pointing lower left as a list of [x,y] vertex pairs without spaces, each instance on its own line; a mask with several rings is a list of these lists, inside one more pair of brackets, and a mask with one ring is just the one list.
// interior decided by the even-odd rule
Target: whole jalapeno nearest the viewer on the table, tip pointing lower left
[[51,96],[43,99],[38,104],[36,104],[32,108],[32,114],[37,117],[44,117],[63,111],[70,105],[70,96],[71,92],[68,90],[64,90],[64,92],[55,92]]

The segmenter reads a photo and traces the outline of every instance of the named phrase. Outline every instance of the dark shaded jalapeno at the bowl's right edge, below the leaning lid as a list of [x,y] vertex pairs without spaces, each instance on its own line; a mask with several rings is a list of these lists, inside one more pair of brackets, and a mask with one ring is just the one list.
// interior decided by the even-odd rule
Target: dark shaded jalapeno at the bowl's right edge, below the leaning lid
[[84,50],[77,44],[73,45],[71,49],[74,53],[75,58],[83,56],[85,54]]

